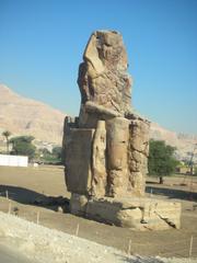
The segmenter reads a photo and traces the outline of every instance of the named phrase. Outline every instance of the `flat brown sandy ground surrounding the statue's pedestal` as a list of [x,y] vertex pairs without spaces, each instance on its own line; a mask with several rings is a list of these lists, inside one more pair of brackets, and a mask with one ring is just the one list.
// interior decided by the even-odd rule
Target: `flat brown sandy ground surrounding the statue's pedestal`
[[[39,217],[39,224],[45,227],[70,235],[78,232],[80,238],[123,252],[128,252],[130,244],[130,254],[143,256],[188,258],[193,237],[192,256],[197,258],[197,180],[171,178],[161,186],[151,179],[147,191],[147,195],[152,193],[152,197],[155,195],[160,198],[175,198],[182,203],[182,229],[138,232],[76,217],[69,213],[57,213],[56,205],[45,207],[33,205],[33,201],[47,198],[49,195],[62,195],[69,198],[63,169],[0,167],[0,210],[4,213],[10,210],[11,214],[15,214],[14,210],[18,210],[19,217],[34,222]],[[8,199],[5,192],[9,195]]]

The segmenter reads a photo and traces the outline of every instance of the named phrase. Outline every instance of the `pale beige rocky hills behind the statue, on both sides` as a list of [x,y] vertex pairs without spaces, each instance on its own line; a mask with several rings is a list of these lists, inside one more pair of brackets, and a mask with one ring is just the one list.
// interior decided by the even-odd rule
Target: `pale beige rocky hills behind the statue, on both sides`
[[[4,84],[0,84],[0,135],[8,129],[13,135],[33,135],[37,140],[61,145],[65,116],[66,114],[58,110],[23,98]],[[197,135],[176,134],[155,123],[151,124],[150,136],[176,147],[179,159],[189,160],[190,152],[197,144]],[[0,136],[0,140],[2,139],[3,137]]]

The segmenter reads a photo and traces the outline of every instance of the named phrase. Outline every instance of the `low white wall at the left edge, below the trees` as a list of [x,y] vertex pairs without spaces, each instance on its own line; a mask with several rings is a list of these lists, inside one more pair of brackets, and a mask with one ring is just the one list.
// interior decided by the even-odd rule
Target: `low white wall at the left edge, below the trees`
[[0,165],[2,167],[27,167],[28,157],[0,155]]

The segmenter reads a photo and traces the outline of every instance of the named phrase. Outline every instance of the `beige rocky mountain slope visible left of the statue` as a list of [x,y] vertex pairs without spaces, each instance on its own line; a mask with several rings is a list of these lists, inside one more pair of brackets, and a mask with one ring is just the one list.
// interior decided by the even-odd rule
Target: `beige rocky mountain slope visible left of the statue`
[[0,129],[32,135],[42,141],[61,144],[66,114],[42,102],[23,98],[0,84]]

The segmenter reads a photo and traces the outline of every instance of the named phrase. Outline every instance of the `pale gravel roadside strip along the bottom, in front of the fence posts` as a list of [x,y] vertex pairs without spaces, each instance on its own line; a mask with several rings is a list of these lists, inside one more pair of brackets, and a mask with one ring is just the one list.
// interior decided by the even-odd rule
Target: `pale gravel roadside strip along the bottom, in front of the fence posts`
[[[0,243],[42,263],[186,263],[188,259],[140,258],[0,211]],[[20,262],[20,261],[19,261]],[[195,259],[190,263],[197,262]]]

